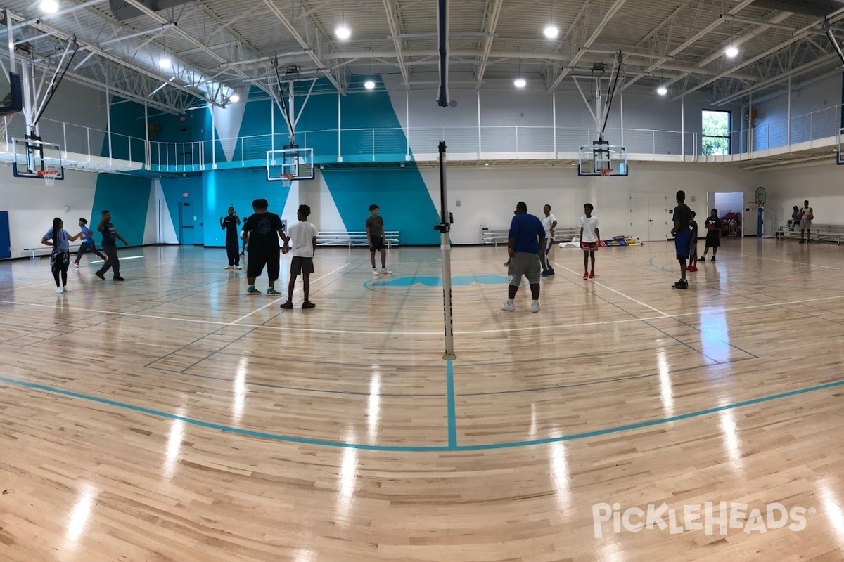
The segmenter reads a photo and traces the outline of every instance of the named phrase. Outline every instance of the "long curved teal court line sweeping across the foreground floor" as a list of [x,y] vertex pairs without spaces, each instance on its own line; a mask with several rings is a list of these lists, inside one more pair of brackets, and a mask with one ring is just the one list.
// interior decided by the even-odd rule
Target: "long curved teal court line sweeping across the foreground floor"
[[[90,396],[89,394],[82,394],[82,393],[75,393],[69,390],[62,390],[61,388],[53,388],[43,384],[37,383],[27,383],[26,381],[19,381],[14,378],[6,378],[0,377],[0,383],[8,383],[19,387],[24,388],[31,388],[34,390],[41,390],[48,393],[59,394],[61,396],[68,396],[70,398],[78,398],[88,400],[89,402],[95,402],[97,404],[106,404],[109,406],[115,406],[116,408],[128,409],[135,412],[139,412],[141,414],[148,414],[154,415],[160,418],[165,418],[167,420],[178,420],[183,421],[187,424],[191,424],[192,426],[199,426],[205,427],[208,429],[214,429],[218,431],[225,431],[227,433],[235,433],[237,435],[243,436],[250,436],[250,437],[259,437],[262,439],[270,439],[273,441],[279,442],[289,442],[289,443],[299,443],[303,445],[317,445],[320,447],[338,447],[338,448],[349,448],[349,449],[360,449],[365,451],[391,451],[391,452],[459,452],[459,451],[487,451],[492,449],[510,449],[510,448],[517,448],[517,447],[529,447],[533,445],[547,445],[549,443],[555,442],[566,442],[566,441],[578,441],[581,439],[587,439],[589,437],[597,437],[597,436],[604,436],[604,435],[612,435],[614,433],[620,433],[622,431],[635,431],[639,429],[643,429],[646,427],[653,427],[653,426],[663,426],[665,424],[673,423],[674,421],[680,420],[689,420],[690,418],[701,417],[704,415],[711,415],[717,414],[718,412],[722,412],[728,409],[738,409],[744,408],[744,406],[751,406],[754,404],[763,404],[765,402],[771,402],[772,400],[778,400],[783,398],[789,398],[792,396],[798,396],[799,394],[806,394],[806,393],[813,393],[819,390],[826,390],[828,388],[838,388],[844,387],[844,379],[838,380],[832,383],[825,383],[825,384],[818,384],[812,387],[806,388],[798,388],[797,390],[789,390],[788,392],[784,393],[777,393],[777,394],[770,394],[768,396],[762,396],[760,398],[743,400],[741,402],[734,402],[733,404],[725,404],[723,406],[717,406],[716,408],[707,408],[707,409],[699,409],[692,412],[688,412],[686,414],[680,415],[673,415],[668,418],[657,418],[655,420],[645,420],[645,421],[638,421],[633,424],[626,424],[625,426],[614,426],[614,427],[606,427],[600,430],[595,431],[585,431],[583,433],[573,433],[571,435],[559,436],[559,437],[547,437],[545,439],[535,439],[533,441],[514,441],[514,442],[500,442],[500,443],[485,443],[479,445],[430,445],[430,446],[412,446],[412,445],[369,445],[365,443],[349,443],[349,442],[337,442],[337,441],[326,441],[322,439],[311,439],[308,437],[294,437],[294,436],[285,436],[279,435],[278,433],[268,433],[265,431],[252,431],[252,430],[245,430],[241,429],[240,427],[232,427],[232,426],[224,426],[222,424],[216,424],[210,421],[203,421],[203,420],[194,420],[193,418],[188,418],[182,415],[175,415],[170,414],[168,412],[162,412],[157,409],[149,409],[143,408],[143,406],[136,406],[134,404],[126,404],[123,402],[117,402],[115,400],[109,400],[104,398],[99,398],[97,396]],[[456,429],[456,428],[455,428]],[[449,441],[451,441],[451,426],[449,427]],[[456,436],[455,436],[456,438]]]

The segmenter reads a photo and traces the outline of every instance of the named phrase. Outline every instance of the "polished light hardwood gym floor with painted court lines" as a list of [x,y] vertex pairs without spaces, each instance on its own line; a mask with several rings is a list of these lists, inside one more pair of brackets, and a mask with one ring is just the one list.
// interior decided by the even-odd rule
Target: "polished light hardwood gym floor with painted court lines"
[[[450,362],[439,249],[321,248],[288,311],[225,250],[120,251],[62,295],[0,264],[3,562],[844,560],[836,245],[728,240],[688,291],[671,244],[592,281],[556,249],[539,313],[457,248]],[[707,533],[705,502],[746,506]]]

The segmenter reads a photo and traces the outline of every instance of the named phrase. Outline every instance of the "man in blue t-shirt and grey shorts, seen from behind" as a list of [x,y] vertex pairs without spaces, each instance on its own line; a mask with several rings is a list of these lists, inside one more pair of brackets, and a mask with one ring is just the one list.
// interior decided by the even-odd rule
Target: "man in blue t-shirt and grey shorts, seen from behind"
[[524,201],[516,204],[516,214],[510,222],[510,233],[507,233],[507,254],[510,255],[510,284],[507,286],[507,300],[501,305],[501,310],[513,312],[516,305],[513,299],[522,284],[522,276],[530,283],[533,302],[530,310],[539,312],[539,252],[545,247],[545,228],[542,221],[527,214]]

